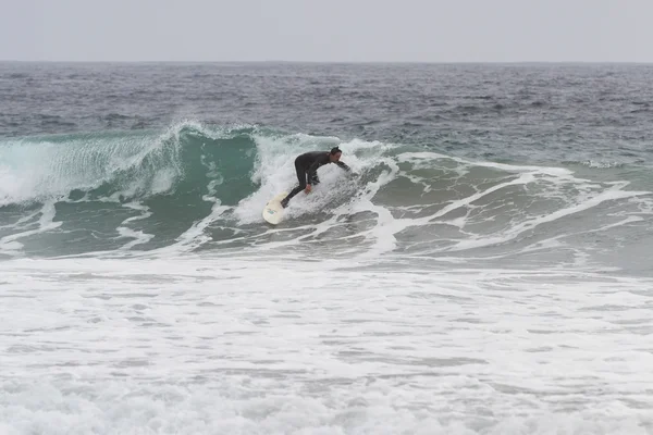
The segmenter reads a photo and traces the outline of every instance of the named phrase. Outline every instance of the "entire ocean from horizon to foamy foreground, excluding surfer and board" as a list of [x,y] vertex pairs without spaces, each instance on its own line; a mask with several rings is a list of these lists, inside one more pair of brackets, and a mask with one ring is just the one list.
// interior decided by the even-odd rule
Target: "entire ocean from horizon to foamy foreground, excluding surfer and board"
[[652,114],[651,65],[0,63],[0,433],[653,434]]

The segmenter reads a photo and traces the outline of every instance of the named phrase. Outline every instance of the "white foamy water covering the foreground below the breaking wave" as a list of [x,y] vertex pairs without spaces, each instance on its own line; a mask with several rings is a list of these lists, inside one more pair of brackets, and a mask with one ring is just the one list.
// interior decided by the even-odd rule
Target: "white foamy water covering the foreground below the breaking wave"
[[650,281],[247,259],[0,263],[0,432],[650,434]]

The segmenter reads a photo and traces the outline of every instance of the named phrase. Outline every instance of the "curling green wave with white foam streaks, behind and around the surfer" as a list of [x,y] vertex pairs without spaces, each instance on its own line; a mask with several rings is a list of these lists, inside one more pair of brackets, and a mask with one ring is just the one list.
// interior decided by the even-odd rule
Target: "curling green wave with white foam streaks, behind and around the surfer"
[[[334,145],[357,175],[321,169],[315,191],[268,226],[261,209],[294,186],[294,158]],[[249,125],[186,121],[162,133],[15,139],[0,150],[5,256],[249,250],[455,263],[538,262],[555,252],[579,265],[594,254],[612,260],[607,246],[645,234],[653,209],[650,192],[628,181],[592,181],[569,167]]]

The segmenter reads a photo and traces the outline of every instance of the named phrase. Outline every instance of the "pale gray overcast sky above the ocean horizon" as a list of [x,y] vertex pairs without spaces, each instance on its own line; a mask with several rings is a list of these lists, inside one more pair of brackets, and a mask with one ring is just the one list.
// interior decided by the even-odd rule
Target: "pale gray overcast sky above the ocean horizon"
[[653,62],[653,0],[0,0],[0,60]]

